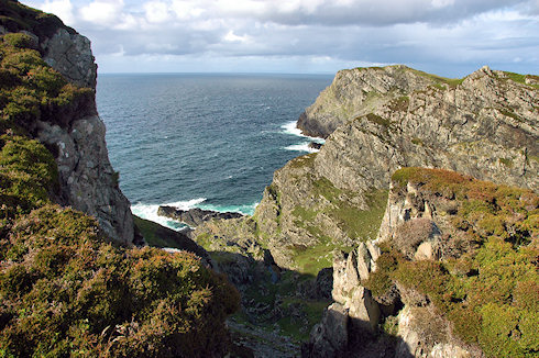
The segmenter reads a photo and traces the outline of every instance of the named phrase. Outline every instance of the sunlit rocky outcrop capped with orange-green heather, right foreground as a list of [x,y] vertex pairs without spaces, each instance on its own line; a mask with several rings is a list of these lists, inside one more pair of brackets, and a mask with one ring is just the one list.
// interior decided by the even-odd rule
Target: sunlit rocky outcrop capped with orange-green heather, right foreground
[[537,354],[539,311],[525,302],[537,300],[538,204],[532,191],[453,171],[397,171],[377,239],[334,255],[324,316],[341,312],[345,334],[322,320],[304,356]]

